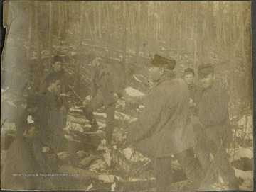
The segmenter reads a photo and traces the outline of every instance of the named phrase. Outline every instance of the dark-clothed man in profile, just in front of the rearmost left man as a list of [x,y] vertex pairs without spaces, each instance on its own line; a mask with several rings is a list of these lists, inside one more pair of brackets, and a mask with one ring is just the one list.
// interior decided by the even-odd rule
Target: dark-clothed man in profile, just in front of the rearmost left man
[[48,74],[46,77],[46,89],[41,96],[41,130],[39,137],[50,149],[57,154],[59,152],[67,152],[70,155],[70,161],[73,166],[79,166],[79,157],[76,154],[73,142],[65,139],[63,131],[62,112],[66,111],[58,100],[61,84],[60,79],[54,73]]

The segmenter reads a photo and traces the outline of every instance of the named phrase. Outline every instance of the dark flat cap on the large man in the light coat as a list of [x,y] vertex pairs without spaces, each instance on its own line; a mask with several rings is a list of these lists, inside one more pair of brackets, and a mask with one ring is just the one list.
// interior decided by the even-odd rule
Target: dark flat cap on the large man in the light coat
[[176,60],[171,60],[156,54],[154,55],[153,60],[151,60],[151,64],[155,67],[164,67],[166,69],[174,70],[174,67],[176,66]]

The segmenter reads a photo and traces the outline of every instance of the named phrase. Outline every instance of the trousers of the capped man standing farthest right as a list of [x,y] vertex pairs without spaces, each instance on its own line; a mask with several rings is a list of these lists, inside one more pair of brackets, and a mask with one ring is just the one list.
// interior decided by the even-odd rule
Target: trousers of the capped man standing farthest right
[[[235,177],[235,171],[228,162],[228,154],[222,144],[223,141],[220,135],[219,130],[210,128],[197,133],[198,142],[195,147],[195,153],[206,176],[203,183],[213,183],[218,174],[220,174],[223,180],[228,183],[230,189],[239,189],[238,179]],[[213,162],[210,161],[210,153],[213,154]]]

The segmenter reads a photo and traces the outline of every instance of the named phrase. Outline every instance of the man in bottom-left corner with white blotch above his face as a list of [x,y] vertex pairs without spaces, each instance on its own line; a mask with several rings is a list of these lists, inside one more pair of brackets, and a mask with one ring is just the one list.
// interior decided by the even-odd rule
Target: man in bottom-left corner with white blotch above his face
[[32,115],[18,123],[17,135],[11,143],[1,173],[1,188],[11,190],[54,189],[51,183],[38,176],[43,172],[36,160],[33,139],[38,134],[39,124]]

